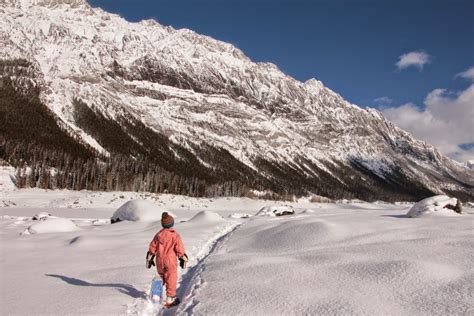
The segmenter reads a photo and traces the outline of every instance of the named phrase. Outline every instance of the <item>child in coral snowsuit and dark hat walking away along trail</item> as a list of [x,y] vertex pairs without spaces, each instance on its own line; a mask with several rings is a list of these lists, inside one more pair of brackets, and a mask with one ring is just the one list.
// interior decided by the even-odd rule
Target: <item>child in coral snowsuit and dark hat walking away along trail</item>
[[155,265],[153,257],[156,256],[156,269],[166,286],[166,306],[172,306],[176,301],[176,282],[178,280],[177,261],[181,268],[186,267],[188,256],[184,252],[181,236],[172,228],[174,219],[167,212],[161,215],[161,229],[156,233],[150,243],[146,256],[147,268]]

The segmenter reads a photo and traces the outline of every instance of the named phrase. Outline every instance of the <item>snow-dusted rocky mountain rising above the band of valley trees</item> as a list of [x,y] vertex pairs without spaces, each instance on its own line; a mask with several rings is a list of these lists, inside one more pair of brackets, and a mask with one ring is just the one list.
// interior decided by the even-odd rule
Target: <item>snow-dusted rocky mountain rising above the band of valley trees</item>
[[231,44],[131,23],[85,0],[0,5],[2,80],[37,91],[58,126],[98,155],[163,155],[172,172],[249,187],[259,178],[258,189],[280,193],[474,199],[474,171],[380,112]]

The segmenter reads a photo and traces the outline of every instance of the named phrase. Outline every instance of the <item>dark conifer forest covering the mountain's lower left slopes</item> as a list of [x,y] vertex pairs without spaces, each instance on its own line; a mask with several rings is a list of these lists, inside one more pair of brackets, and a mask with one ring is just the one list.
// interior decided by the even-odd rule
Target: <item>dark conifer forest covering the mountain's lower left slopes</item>
[[[244,196],[250,195],[248,183],[264,187],[225,150],[196,148],[215,166],[209,169],[192,152],[143,123],[130,117],[115,121],[75,100],[76,124],[110,155],[98,153],[58,125],[38,97],[31,64],[0,61],[0,68],[5,75],[0,78],[0,160],[17,169],[20,188]],[[219,164],[213,164],[216,161]]]

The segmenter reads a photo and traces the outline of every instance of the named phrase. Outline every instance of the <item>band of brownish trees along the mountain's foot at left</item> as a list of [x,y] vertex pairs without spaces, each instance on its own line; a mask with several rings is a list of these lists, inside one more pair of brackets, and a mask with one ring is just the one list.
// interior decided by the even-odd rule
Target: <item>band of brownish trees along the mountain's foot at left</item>
[[[196,177],[183,177],[141,158],[113,155],[105,160],[83,160],[38,145],[27,147],[31,153],[29,161],[13,158],[12,149],[23,151],[22,145],[12,146],[7,142],[5,146],[7,161],[15,163],[16,185],[20,188],[146,191],[195,197],[244,196],[249,191],[236,181],[209,184]],[[52,166],[52,161],[62,163]]]

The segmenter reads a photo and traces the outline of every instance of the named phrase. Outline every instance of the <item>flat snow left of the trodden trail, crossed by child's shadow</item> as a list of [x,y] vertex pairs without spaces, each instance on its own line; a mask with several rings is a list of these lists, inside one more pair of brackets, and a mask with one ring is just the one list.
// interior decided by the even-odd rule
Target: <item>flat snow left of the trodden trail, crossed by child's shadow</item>
[[[0,275],[2,284],[9,285],[0,289],[2,314],[155,314],[158,310],[153,306],[150,309],[146,295],[156,270],[145,268],[145,254],[149,242],[161,229],[160,222],[123,221],[110,225],[109,218],[90,217],[93,214],[109,217],[114,209],[84,208],[90,203],[86,200],[87,204],[83,205],[83,198],[79,198],[77,209],[32,207],[41,197],[49,200],[49,203],[43,201],[41,204],[45,206],[57,205],[58,199],[72,200],[68,193],[77,200],[78,192],[30,190],[28,198],[21,202],[22,207],[0,209],[2,214],[18,212],[27,215],[1,217]],[[18,194],[24,195],[25,192],[10,192],[1,198],[20,202]],[[85,194],[90,197],[90,193],[79,192],[79,195]],[[91,205],[104,206],[104,201],[110,196],[112,193],[95,193]],[[179,200],[176,203],[180,206],[187,200],[174,196],[164,200],[168,198],[170,201]],[[199,205],[199,201],[194,202]],[[138,204],[143,206],[143,203]],[[169,203],[171,207],[174,205],[174,202]],[[70,212],[73,218],[33,221],[32,216],[43,209],[64,217]],[[80,216],[82,212],[85,214]],[[180,275],[186,275],[207,254],[213,240],[239,222],[210,211],[190,211],[184,207],[178,213],[175,228],[181,234],[190,257],[189,267],[180,271]],[[54,229],[49,229],[41,235],[20,235],[36,225],[55,226],[57,220],[73,223],[80,231],[54,232]],[[183,290],[186,286],[182,285]]]

